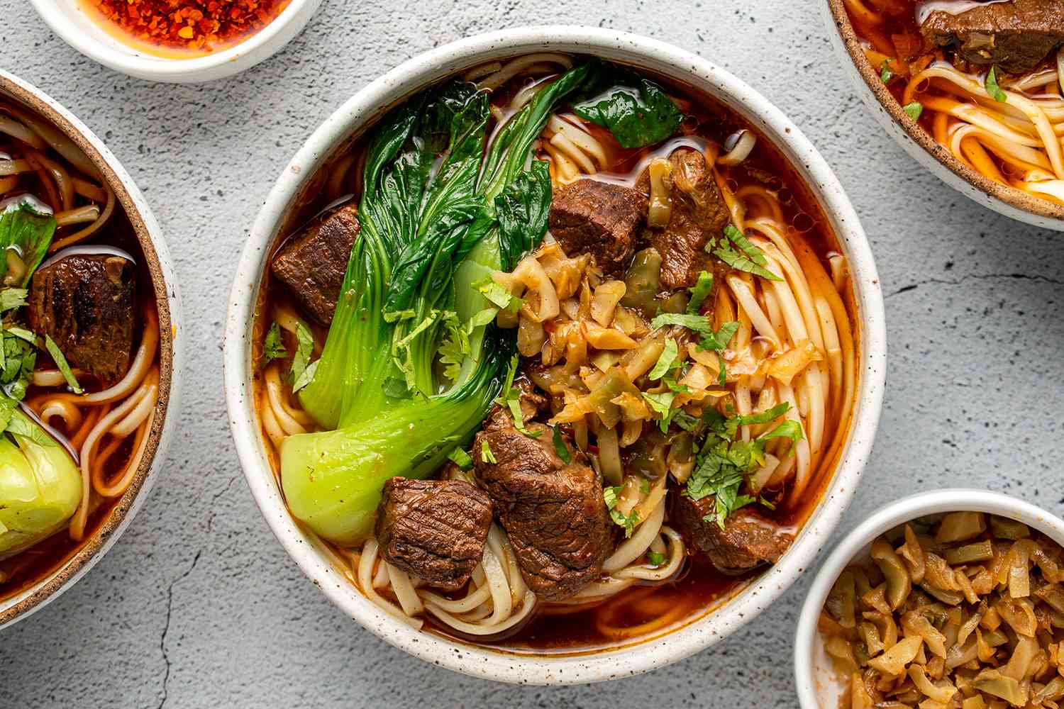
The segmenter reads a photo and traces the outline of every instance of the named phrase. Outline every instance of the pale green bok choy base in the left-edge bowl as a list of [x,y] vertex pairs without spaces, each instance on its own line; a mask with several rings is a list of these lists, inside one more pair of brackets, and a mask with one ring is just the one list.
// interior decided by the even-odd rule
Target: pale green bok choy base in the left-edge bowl
[[62,529],[81,503],[81,470],[17,404],[0,400],[0,559]]

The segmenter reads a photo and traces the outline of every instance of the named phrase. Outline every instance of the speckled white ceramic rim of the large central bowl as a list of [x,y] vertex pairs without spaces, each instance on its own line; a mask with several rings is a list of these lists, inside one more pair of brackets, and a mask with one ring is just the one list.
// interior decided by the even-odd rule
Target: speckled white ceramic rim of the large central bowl
[[[643,67],[705,91],[746,117],[789,158],[831,220],[852,271],[861,332],[861,382],[847,449],[815,511],[780,562],[734,597],[666,637],[568,655],[515,654],[504,646],[472,646],[419,632],[366,601],[315,550],[285,508],[266,457],[252,388],[251,332],[266,259],[314,172],[400,99],[484,62],[537,51],[592,54]],[[488,679],[562,685],[646,672],[709,647],[771,605],[809,568],[852,497],[871,450],[885,354],[883,302],[868,242],[838,181],[793,122],[727,71],[669,45],[601,29],[538,27],[471,37],[417,56],[369,84],[314,132],[284,169],[244,249],[229,302],[225,367],[230,423],[255,502],[288,554],[336,606],[380,638],[426,661]]]

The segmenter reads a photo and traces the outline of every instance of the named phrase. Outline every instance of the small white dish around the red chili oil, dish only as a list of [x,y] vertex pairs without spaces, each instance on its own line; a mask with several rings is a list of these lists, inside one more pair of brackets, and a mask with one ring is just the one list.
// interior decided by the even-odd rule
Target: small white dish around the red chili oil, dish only
[[115,71],[177,84],[223,79],[279,52],[300,33],[321,0],[292,0],[272,22],[238,45],[205,56],[166,58],[145,53],[107,33],[83,0],[30,0],[51,30],[79,52]]

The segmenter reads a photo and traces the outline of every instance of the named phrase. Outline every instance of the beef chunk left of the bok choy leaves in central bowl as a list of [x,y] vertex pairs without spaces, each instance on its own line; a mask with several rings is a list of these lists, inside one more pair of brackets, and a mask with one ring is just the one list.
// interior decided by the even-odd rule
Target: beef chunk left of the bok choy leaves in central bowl
[[322,325],[332,322],[358,235],[358,209],[348,204],[314,220],[273,256],[273,275],[288,286],[306,314]]

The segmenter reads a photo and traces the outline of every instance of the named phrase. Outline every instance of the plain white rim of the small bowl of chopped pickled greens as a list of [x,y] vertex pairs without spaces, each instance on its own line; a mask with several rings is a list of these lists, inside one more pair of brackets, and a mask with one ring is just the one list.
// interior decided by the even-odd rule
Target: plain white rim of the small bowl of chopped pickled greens
[[944,488],[917,492],[881,507],[843,537],[820,564],[798,613],[795,630],[795,688],[802,709],[820,709],[813,670],[813,648],[820,609],[831,587],[862,548],[884,531],[918,517],[940,512],[977,511],[1007,517],[1034,527],[1064,546],[1064,520],[1026,500],[978,488]]

